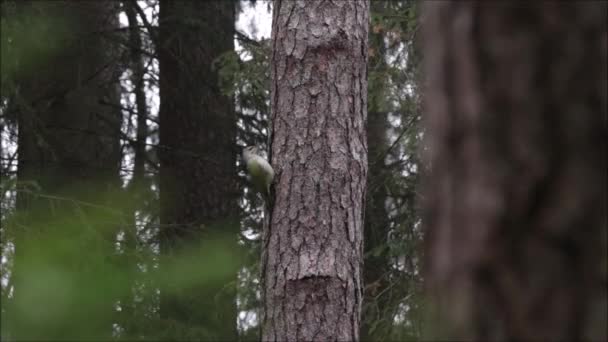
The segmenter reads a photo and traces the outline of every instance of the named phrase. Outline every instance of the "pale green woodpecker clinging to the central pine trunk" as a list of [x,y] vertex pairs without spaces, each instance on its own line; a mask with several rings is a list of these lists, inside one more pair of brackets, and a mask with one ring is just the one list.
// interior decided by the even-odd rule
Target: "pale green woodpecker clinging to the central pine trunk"
[[247,166],[251,183],[256,191],[262,194],[266,205],[271,206],[270,186],[274,179],[272,166],[264,159],[256,146],[247,146],[243,149],[243,160]]

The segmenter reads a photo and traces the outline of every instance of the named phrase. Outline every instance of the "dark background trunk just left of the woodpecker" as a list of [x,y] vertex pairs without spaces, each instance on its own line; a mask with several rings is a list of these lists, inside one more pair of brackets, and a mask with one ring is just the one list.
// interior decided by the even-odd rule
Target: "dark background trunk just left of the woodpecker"
[[[161,253],[169,260],[186,244],[215,234],[236,250],[239,196],[234,103],[220,92],[214,60],[233,50],[232,1],[160,2]],[[237,221],[238,222],[238,221]],[[217,267],[223,267],[220,260]],[[162,267],[162,263],[161,263]],[[205,270],[201,270],[204,272]],[[161,317],[235,340],[236,270],[217,284],[161,289]],[[186,337],[181,337],[186,338]]]

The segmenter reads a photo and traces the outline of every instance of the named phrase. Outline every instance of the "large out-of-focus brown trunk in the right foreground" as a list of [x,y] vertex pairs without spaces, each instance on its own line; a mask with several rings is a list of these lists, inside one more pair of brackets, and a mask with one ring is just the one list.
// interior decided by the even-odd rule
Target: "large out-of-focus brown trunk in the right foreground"
[[443,333],[606,340],[606,3],[425,5]]

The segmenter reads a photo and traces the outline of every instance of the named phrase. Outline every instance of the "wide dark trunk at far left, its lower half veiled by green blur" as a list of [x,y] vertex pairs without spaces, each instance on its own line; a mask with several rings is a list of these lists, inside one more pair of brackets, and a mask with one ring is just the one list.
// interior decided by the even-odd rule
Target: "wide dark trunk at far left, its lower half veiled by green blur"
[[[39,187],[17,197],[25,218],[15,243],[13,324],[7,327],[17,339],[99,339],[112,333],[117,298],[110,285],[99,288],[95,277],[107,271],[99,258],[112,254],[118,221],[86,203],[109,207],[105,195],[120,186],[120,64],[108,37],[118,26],[116,5],[17,4],[21,32],[38,33],[15,41],[21,66],[18,179],[22,186]],[[91,227],[99,240],[84,241],[80,237],[90,237]],[[41,248],[40,237],[53,245]]]

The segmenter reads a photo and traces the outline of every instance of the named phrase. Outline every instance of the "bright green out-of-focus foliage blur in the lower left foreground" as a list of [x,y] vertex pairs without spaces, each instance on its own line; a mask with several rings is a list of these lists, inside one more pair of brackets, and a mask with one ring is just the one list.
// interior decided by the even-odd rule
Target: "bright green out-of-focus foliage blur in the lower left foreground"
[[[207,237],[163,259],[162,265],[158,249],[128,246],[130,218],[120,210],[128,207],[124,193],[82,202],[23,191],[18,196],[32,197],[35,206],[15,211],[2,222],[5,248],[16,248],[10,274],[15,290],[2,301],[9,316],[3,322],[4,337],[107,339],[112,330],[125,328],[119,321],[119,313],[126,309],[121,300],[134,291],[143,298],[143,292],[159,287],[176,296],[217,287],[238,265],[239,252],[228,248],[231,236]],[[153,288],[138,288],[144,283]],[[202,327],[178,329],[158,313],[148,317],[147,324],[133,330],[147,332],[146,339],[207,336]],[[150,329],[168,325],[172,328]]]

